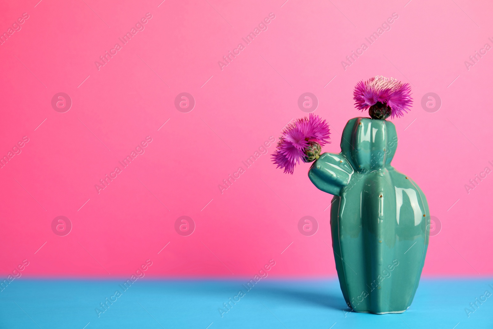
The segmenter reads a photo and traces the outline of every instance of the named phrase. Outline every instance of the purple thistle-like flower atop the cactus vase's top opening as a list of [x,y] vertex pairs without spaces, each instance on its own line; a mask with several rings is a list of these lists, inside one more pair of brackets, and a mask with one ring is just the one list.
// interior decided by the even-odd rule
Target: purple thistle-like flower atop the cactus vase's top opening
[[367,81],[359,81],[354,87],[354,105],[358,110],[367,110],[378,102],[387,105],[394,116],[400,117],[410,110],[413,103],[411,86],[394,78],[375,76]]

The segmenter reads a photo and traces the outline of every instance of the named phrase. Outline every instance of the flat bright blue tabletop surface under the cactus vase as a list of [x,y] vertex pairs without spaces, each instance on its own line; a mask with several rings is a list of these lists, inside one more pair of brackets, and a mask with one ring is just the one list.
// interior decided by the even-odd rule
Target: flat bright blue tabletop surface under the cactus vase
[[351,312],[337,280],[124,282],[15,279],[0,328],[493,328],[493,278],[422,279],[411,307],[388,315]]

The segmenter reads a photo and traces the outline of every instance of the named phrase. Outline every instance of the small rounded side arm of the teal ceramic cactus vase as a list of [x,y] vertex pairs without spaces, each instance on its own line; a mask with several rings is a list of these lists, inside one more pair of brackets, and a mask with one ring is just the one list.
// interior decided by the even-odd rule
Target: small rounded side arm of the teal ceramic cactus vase
[[354,170],[344,155],[323,153],[313,163],[308,177],[318,189],[340,196],[342,188],[348,185],[353,173]]

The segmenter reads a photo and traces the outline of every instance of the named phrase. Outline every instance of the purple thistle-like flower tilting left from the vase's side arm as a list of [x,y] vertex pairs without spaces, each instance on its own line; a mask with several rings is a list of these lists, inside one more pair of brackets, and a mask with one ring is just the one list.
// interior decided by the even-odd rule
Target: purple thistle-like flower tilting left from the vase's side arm
[[277,164],[276,168],[283,168],[284,173],[293,174],[300,159],[311,162],[318,158],[320,146],[330,143],[329,135],[329,124],[310,113],[309,118],[297,119],[284,128],[272,161]]

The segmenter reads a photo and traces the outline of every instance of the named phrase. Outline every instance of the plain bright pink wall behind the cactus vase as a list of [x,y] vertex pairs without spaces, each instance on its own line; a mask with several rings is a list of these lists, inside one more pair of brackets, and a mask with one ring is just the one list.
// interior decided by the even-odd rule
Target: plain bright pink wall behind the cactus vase
[[[271,145],[223,193],[218,184],[307,115],[297,105],[305,92],[331,124],[324,151],[338,152],[347,120],[361,115],[353,87],[377,74],[412,84],[412,111],[393,120],[393,165],[421,185],[442,226],[423,273],[493,273],[493,174],[464,187],[493,170],[493,53],[481,50],[493,46],[492,3],[37,1],[0,4],[1,32],[29,15],[0,45],[0,155],[29,139],[0,169],[3,275],[24,259],[28,276],[126,276],[146,259],[156,277],[250,276],[269,259],[273,276],[336,275],[332,196],[310,183],[309,164],[285,175]],[[123,44],[146,13],[152,18]],[[267,30],[246,44],[270,13]],[[365,37],[392,13],[390,30],[370,45]],[[239,43],[245,49],[221,70]],[[362,43],[368,49],[345,70],[341,61]],[[105,51],[116,54],[98,70]],[[475,51],[486,54],[467,68]],[[72,101],[64,113],[51,106],[59,92]],[[187,113],[175,107],[182,92],[196,103]],[[430,92],[438,111],[421,106]],[[123,168],[118,161],[147,136],[144,153]],[[116,166],[121,173],[98,193]],[[52,230],[58,216],[70,219],[66,236]],[[181,216],[193,219],[193,234],[177,233]],[[317,220],[312,236],[298,230],[304,216]]]

